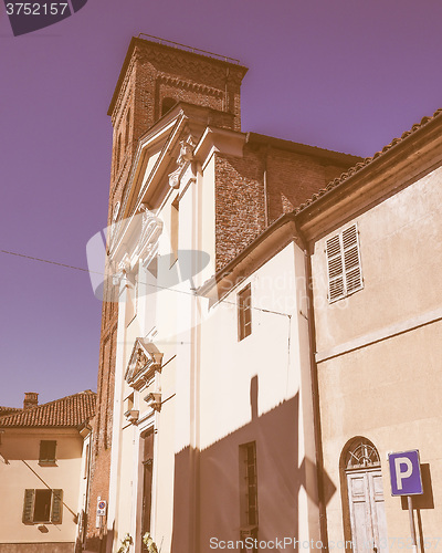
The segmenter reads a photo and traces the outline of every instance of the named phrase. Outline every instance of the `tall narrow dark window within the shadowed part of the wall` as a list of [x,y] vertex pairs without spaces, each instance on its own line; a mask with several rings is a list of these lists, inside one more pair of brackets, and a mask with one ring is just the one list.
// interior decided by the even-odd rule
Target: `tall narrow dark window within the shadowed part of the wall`
[[[256,442],[240,446],[240,512],[241,540],[257,540],[257,473]],[[243,547],[243,552],[255,552],[255,547]]]

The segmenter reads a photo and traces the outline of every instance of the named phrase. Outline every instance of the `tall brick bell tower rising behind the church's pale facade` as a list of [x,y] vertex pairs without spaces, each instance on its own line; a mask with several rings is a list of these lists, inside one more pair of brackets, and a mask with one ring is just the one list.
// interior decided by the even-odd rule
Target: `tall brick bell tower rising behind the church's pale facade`
[[[118,218],[122,196],[137,142],[177,102],[209,107],[223,114],[225,128],[241,131],[241,81],[246,67],[238,60],[198,51],[149,35],[133,38],[107,114],[113,125],[108,226]],[[220,126],[220,125],[219,125]],[[96,528],[98,497],[108,500],[115,354],[118,303],[116,289],[104,290],[97,414],[94,422],[92,483],[86,545],[106,551],[106,521]]]

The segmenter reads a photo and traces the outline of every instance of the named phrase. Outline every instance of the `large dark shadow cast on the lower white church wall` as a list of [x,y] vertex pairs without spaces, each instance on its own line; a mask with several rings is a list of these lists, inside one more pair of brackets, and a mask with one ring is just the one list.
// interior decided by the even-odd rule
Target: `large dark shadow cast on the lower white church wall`
[[[202,451],[188,447],[176,455],[173,553],[210,551],[211,538],[240,540],[241,529],[248,526],[246,513],[241,508],[241,494],[248,491],[241,482],[244,460],[240,450],[251,442],[256,445],[257,539],[273,541],[299,535],[299,491],[306,489],[306,473],[316,472],[316,467],[306,459],[298,465],[298,395],[260,417],[257,413],[255,376],[251,380],[248,425]],[[329,499],[336,488],[325,478]],[[309,477],[308,480],[312,481]],[[306,491],[317,503],[316,489]],[[192,532],[197,543],[192,541]]]

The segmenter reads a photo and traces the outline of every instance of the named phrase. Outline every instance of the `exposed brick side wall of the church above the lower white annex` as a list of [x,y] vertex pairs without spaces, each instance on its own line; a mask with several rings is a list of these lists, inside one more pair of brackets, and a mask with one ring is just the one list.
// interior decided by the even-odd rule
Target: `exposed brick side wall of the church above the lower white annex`
[[[314,149],[314,148],[312,148]],[[217,270],[240,253],[266,226],[303,204],[352,165],[246,143],[243,157],[215,157]]]

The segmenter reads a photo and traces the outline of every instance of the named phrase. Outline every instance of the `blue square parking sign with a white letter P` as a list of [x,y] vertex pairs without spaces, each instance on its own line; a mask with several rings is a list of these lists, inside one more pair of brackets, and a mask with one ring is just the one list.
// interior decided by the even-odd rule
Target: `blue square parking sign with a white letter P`
[[419,495],[423,493],[419,451],[389,453],[391,495]]

